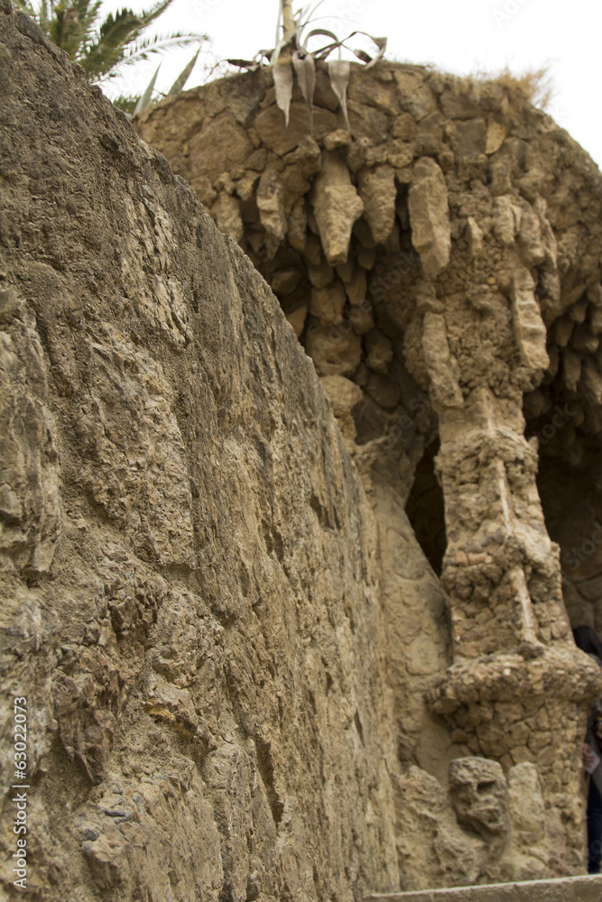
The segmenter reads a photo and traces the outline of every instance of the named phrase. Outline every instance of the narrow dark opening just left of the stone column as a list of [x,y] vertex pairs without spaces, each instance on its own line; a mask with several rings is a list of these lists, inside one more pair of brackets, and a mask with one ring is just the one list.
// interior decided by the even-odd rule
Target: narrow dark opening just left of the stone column
[[447,547],[445,534],[445,504],[443,492],[435,474],[435,457],[440,441],[436,438],[428,445],[416,467],[412,490],[405,505],[405,512],[422,551],[435,573],[440,576],[443,556]]

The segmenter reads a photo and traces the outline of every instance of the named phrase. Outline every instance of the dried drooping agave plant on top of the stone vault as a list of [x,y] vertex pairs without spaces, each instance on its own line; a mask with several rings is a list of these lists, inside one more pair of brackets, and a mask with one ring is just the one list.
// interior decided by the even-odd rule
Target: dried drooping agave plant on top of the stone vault
[[[382,60],[386,49],[386,38],[373,38],[366,32],[351,32],[343,41],[339,41],[336,34],[329,32],[323,28],[312,29],[305,41],[301,43],[301,33],[304,31],[309,15],[305,21],[302,21],[303,11],[297,14],[295,18],[295,31],[290,41],[280,41],[274,51],[260,51],[255,60],[227,60],[233,66],[241,69],[249,69],[255,71],[261,65],[261,60],[266,57],[270,61],[273,71],[273,84],[276,90],[276,103],[284,114],[284,123],[289,124],[289,112],[291,109],[292,83],[293,74],[297,76],[301,94],[305,98],[310,115],[310,131],[313,134],[313,92],[316,87],[316,60],[326,60],[332,51],[346,47],[346,41],[349,41],[356,34],[364,34],[373,41],[378,49],[375,57],[371,57],[366,51],[352,51],[358,60],[362,60],[366,64],[366,69],[374,66],[378,60]],[[314,37],[330,38],[330,43],[321,47],[319,51],[310,53],[307,49],[308,41]],[[345,117],[347,129],[351,131],[349,118],[347,115],[347,85],[351,75],[351,65],[348,60],[329,60],[328,62],[329,79],[332,90],[338,97],[338,103],[341,112]]]

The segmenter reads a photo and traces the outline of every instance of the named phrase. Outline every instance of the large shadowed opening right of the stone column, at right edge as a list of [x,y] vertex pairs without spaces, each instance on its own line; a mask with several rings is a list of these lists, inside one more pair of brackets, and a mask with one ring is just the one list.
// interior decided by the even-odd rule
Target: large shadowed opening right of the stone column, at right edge
[[560,546],[570,626],[591,626],[600,633],[602,357],[597,310],[584,296],[549,328],[550,368],[539,387],[524,396],[523,414],[525,437],[537,439],[537,488],[546,529]]

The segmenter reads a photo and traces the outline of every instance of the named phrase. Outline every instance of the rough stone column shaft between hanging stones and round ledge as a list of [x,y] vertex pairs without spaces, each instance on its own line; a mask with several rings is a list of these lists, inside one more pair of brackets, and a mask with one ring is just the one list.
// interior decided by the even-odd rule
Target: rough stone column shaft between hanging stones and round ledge
[[524,437],[520,399],[487,386],[440,411],[438,474],[448,548],[442,580],[452,603],[456,661],[519,649],[540,657],[568,641],[558,548],[543,521],[537,449]]

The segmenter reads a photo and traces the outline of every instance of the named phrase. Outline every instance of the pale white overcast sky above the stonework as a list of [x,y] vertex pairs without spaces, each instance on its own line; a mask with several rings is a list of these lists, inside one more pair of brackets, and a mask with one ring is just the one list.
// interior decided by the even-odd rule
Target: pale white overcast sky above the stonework
[[[108,0],[103,8],[122,5]],[[131,5],[140,9],[151,2]],[[215,60],[251,59],[261,48],[273,47],[278,8],[279,0],[173,0],[158,31],[206,32]],[[553,88],[547,111],[602,168],[600,0],[323,0],[314,17],[314,27],[338,37],[354,28],[385,36],[389,60],[430,62],[458,75],[505,66],[521,73],[547,65]],[[357,39],[351,45],[369,49]],[[171,51],[156,87],[167,90],[193,52]],[[125,87],[144,90],[158,59],[142,66],[139,78],[128,78]],[[203,80],[198,65],[186,87]],[[115,89],[105,90],[112,96]]]

